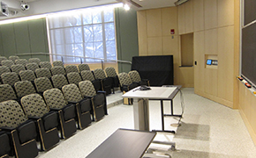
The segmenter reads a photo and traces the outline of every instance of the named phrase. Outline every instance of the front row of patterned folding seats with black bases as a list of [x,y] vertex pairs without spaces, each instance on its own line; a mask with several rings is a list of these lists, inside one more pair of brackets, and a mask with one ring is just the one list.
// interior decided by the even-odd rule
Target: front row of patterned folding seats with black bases
[[[5,96],[15,96],[10,85],[0,86],[9,87],[1,90],[1,93],[6,92]],[[41,143],[41,150],[48,150],[59,142],[58,131],[61,138],[69,138],[77,128],[83,129],[107,114],[105,92],[96,92],[90,81],[1,102],[0,157],[35,157],[38,154],[36,141]]]

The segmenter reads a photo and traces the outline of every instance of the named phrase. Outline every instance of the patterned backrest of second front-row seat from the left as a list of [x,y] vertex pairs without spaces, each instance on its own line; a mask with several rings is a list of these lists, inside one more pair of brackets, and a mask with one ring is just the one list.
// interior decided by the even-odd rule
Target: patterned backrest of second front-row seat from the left
[[49,107],[44,103],[39,94],[31,94],[22,97],[20,100],[22,107],[28,117],[42,117],[49,112]]

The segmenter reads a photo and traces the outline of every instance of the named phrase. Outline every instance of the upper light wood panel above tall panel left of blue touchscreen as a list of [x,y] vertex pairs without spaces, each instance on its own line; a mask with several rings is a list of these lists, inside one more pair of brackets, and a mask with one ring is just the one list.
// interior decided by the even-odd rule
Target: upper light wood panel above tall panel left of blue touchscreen
[[193,27],[194,32],[205,28],[204,0],[193,0]]

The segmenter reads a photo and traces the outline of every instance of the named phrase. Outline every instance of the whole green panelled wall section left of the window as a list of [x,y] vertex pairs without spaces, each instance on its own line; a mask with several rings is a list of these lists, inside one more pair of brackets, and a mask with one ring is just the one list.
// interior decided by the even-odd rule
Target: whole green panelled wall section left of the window
[[[46,19],[34,19],[0,25],[0,55],[49,53]],[[40,58],[49,61],[49,55],[19,55],[20,58]]]

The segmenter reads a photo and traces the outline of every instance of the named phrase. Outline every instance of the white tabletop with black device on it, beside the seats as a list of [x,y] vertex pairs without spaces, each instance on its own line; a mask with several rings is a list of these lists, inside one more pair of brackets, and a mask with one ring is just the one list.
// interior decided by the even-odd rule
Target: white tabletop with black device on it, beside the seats
[[175,87],[150,87],[151,90],[139,90],[136,87],[126,92],[122,97],[149,98],[149,99],[172,99],[172,93],[178,88]]

